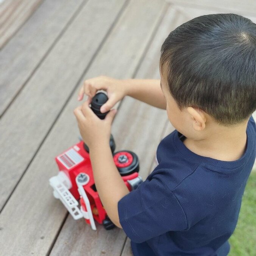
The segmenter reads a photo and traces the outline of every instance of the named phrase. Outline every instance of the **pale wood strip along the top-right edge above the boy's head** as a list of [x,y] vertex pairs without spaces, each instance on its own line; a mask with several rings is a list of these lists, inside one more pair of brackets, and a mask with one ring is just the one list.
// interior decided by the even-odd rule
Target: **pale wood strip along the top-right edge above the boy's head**
[[255,16],[256,1],[254,0],[167,0],[167,2],[181,5],[185,8],[212,10],[216,13],[236,13],[242,16]]

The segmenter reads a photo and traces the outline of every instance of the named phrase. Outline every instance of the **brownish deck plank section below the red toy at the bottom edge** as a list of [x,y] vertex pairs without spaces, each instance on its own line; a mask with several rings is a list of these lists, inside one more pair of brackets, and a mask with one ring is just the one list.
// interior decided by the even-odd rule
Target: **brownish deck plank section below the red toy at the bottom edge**
[[106,230],[98,223],[96,223],[96,228],[97,231],[93,231],[84,219],[75,221],[69,215],[50,255],[119,256],[126,238],[125,233],[119,228]]

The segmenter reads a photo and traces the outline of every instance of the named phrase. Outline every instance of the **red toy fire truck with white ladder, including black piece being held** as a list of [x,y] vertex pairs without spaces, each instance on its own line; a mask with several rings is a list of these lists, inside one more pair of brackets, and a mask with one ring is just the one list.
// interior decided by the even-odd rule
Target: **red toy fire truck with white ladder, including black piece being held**
[[[92,98],[91,109],[100,119],[104,119],[106,114],[108,114],[108,112],[100,112],[100,107],[107,100],[108,97],[103,92],[97,93]],[[130,191],[136,189],[142,183],[142,179],[138,174],[139,160],[137,155],[128,150],[114,153],[116,145],[112,134],[109,146],[125,185]],[[64,153],[58,155],[55,160],[59,167],[59,173],[50,178],[54,197],[61,200],[75,220],[84,218],[91,225],[92,229],[96,230],[94,220],[103,224],[106,229],[114,228],[115,225],[108,218],[94,184],[87,145],[80,141],[64,151]],[[80,208],[78,208],[77,200],[80,201]]]

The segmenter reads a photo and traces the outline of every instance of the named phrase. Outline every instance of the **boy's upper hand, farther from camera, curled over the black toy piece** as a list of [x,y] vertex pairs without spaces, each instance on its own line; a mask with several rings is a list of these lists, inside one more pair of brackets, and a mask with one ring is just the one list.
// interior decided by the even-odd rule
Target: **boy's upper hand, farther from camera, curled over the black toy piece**
[[92,98],[98,90],[105,90],[108,95],[108,101],[100,108],[101,113],[109,111],[126,95],[124,80],[111,78],[109,76],[97,76],[84,81],[77,100],[82,100],[84,94]]

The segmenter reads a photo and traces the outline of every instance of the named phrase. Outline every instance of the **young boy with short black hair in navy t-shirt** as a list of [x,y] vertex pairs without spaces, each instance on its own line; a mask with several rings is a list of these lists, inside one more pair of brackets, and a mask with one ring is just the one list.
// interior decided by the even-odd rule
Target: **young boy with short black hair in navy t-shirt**
[[[75,109],[90,148],[95,184],[134,255],[227,255],[256,156],[256,25],[235,14],[192,19],[161,48],[159,80],[84,82]],[[115,110],[89,108],[107,91],[106,112],[125,95],[167,110],[175,131],[157,148],[158,166],[129,193],[109,148]],[[108,180],[108,183],[105,181]]]

